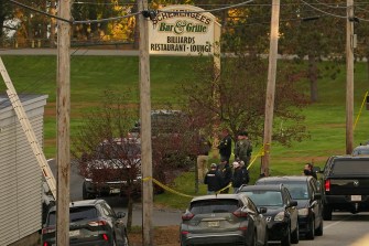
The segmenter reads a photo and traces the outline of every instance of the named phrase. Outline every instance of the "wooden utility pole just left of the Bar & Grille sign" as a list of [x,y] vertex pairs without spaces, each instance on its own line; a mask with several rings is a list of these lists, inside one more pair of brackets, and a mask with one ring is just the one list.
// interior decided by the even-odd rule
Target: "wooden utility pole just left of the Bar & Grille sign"
[[153,190],[152,190],[152,146],[151,146],[151,94],[149,22],[142,11],[148,0],[139,1],[140,21],[140,118],[141,118],[141,164],[142,164],[142,238],[144,246],[153,246]]

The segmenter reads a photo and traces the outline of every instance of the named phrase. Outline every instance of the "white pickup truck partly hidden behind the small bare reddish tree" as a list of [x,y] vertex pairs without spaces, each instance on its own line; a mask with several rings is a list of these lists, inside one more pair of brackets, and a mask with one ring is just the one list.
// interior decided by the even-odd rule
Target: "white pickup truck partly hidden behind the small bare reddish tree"
[[106,140],[97,147],[96,159],[79,164],[83,199],[139,193],[141,189],[141,145],[139,139]]

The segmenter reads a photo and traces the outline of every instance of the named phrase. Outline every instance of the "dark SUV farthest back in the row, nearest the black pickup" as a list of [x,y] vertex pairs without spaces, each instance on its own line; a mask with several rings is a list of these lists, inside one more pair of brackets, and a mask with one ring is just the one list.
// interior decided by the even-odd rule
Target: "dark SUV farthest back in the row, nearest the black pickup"
[[267,177],[256,184],[283,184],[293,200],[297,201],[299,229],[308,239],[323,235],[323,201],[322,189],[317,180],[311,175],[301,177]]

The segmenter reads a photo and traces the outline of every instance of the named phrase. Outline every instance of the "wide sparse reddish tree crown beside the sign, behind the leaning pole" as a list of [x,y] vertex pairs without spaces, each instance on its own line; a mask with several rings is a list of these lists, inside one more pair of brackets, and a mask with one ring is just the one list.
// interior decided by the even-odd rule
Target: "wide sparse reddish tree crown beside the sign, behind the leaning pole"
[[[202,60],[195,65],[196,78],[183,85],[184,108],[194,121],[211,132],[214,124],[227,127],[236,136],[247,130],[254,141],[261,141],[267,87],[267,61],[245,53],[236,57],[225,57],[221,75],[213,76],[213,63]],[[279,66],[275,89],[273,140],[290,146],[308,135],[302,125],[304,117],[300,108],[307,104],[306,95],[300,93],[295,82],[299,71],[292,62]],[[214,93],[215,92],[215,93]],[[218,96],[214,96],[218,95]],[[278,128],[283,124],[283,129]]]

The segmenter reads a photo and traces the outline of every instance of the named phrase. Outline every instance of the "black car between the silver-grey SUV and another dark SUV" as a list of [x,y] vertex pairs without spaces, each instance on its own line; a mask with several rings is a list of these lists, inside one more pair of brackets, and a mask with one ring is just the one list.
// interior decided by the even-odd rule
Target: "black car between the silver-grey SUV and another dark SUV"
[[297,202],[283,184],[242,185],[238,193],[250,197],[258,208],[268,208],[264,216],[269,240],[281,240],[282,246],[299,243]]

